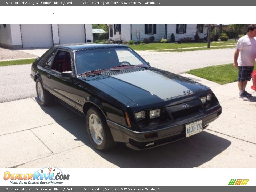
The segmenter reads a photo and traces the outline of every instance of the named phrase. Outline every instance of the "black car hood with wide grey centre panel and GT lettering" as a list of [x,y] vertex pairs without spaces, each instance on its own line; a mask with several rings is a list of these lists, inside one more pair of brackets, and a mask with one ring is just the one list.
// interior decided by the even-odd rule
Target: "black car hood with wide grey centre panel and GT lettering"
[[209,89],[191,79],[155,68],[111,71],[101,73],[95,80],[139,106],[177,100]]

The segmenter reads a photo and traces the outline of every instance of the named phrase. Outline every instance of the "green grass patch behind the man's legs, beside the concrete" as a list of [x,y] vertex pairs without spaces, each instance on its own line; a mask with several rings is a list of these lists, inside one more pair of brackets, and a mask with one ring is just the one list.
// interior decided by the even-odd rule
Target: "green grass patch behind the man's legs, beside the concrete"
[[[255,62],[256,63],[256,62]],[[254,66],[254,70],[256,66]],[[187,73],[213,81],[218,84],[226,84],[237,81],[238,68],[233,67],[233,63],[226,65],[217,65],[204,67],[200,69],[193,69]]]

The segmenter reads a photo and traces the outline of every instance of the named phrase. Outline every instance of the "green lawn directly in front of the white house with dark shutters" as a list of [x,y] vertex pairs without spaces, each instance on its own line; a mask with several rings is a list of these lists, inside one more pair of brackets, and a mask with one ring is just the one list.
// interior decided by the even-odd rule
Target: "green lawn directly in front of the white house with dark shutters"
[[[223,43],[211,42],[211,46],[221,46]],[[228,44],[227,44],[228,45]],[[207,42],[189,42],[189,43],[149,43],[140,45],[128,45],[134,50],[161,50],[161,49],[177,49],[177,48],[189,48],[189,47],[207,47]]]

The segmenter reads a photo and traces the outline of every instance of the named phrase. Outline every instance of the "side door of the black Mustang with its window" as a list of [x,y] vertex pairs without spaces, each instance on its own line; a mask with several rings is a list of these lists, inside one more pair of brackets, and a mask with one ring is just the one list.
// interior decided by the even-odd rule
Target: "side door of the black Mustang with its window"
[[72,52],[65,49],[57,49],[54,54],[54,60],[46,76],[46,86],[49,88],[50,93],[75,107],[74,78],[62,77],[61,75],[64,71],[73,71]]

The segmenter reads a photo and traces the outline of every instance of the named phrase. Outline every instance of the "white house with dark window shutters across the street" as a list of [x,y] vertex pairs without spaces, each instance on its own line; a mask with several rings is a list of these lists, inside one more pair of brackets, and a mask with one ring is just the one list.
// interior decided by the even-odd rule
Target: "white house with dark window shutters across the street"
[[171,34],[175,35],[175,40],[191,37],[194,39],[196,32],[200,38],[207,36],[207,26],[204,24],[108,24],[109,39],[142,41],[144,38],[155,37],[155,41],[162,38],[171,40]]

